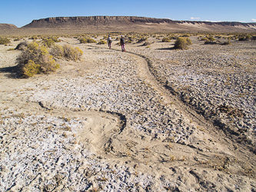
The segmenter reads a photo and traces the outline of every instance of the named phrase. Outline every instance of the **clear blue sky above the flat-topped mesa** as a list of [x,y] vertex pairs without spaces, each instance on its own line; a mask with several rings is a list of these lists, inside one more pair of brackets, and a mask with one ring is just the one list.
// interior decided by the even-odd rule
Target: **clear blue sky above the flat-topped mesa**
[[34,19],[141,16],[179,21],[256,22],[256,0],[1,0],[0,23],[22,27]]

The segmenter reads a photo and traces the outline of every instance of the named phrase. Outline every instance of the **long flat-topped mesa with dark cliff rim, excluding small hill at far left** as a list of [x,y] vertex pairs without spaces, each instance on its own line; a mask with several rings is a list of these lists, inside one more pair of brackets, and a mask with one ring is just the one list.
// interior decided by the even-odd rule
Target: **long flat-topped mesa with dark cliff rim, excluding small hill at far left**
[[87,28],[111,31],[255,31],[256,23],[172,21],[135,16],[56,17],[33,20],[22,28]]

